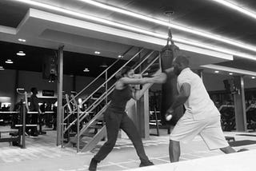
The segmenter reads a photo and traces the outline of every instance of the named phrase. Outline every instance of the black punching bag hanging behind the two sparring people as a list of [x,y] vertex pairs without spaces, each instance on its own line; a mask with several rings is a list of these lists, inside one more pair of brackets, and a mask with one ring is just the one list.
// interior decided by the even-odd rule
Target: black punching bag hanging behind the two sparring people
[[[172,67],[174,58],[178,55],[178,46],[174,45],[171,39],[171,33],[169,30],[169,38],[167,39],[167,45],[162,48],[161,51],[161,67],[162,71]],[[171,44],[170,44],[171,42]],[[162,84],[162,101],[161,101],[161,121],[162,125],[176,125],[178,119],[182,117],[183,107],[179,106],[174,111],[174,117],[170,121],[166,121],[166,110],[170,108],[170,105],[174,102],[174,97],[178,95],[177,89],[177,77],[171,74],[167,74],[166,83]]]

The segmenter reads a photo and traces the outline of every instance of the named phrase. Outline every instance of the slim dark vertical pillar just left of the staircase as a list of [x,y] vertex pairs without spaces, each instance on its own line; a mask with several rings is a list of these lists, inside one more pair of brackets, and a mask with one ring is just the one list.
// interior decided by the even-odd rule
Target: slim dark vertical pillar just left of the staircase
[[63,48],[58,48],[58,108],[57,108],[57,145],[62,137],[62,89],[63,89]]

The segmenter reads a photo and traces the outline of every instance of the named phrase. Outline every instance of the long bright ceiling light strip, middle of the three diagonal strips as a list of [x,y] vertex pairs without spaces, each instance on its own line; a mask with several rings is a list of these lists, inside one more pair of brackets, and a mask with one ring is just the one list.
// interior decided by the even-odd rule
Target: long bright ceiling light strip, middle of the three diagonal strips
[[190,34],[197,34],[197,35],[205,37],[205,38],[211,38],[211,39],[214,39],[214,40],[217,40],[217,41],[220,41],[220,42],[226,42],[230,45],[238,46],[238,47],[241,47],[241,48],[244,48],[244,49],[247,49],[247,50],[252,50],[252,51],[256,52],[256,47],[255,46],[250,46],[250,45],[247,45],[247,44],[242,43],[242,42],[236,42],[235,40],[220,37],[216,34],[202,32],[202,31],[197,30],[196,28],[192,28],[190,26],[181,26],[179,23],[174,24],[174,22],[173,23],[164,22],[164,21],[161,21],[160,19],[149,18],[149,17],[146,17],[142,14],[136,14],[136,13],[130,12],[128,10],[123,10],[123,9],[120,9],[120,8],[117,8],[117,7],[114,7],[114,6],[108,6],[106,4],[102,4],[100,2],[95,2],[95,1],[92,1],[92,0],[78,0],[78,1],[86,2],[86,3],[89,3],[90,5],[98,6],[100,8],[103,8],[103,9],[106,9],[106,10],[111,10],[111,11],[114,11],[114,12],[117,12],[117,13],[120,13],[120,14],[126,14],[126,15],[129,15],[129,16],[134,17],[134,18],[139,18],[139,19],[142,19],[142,20],[146,20],[148,22],[154,22],[154,23],[162,25],[162,26],[168,26],[168,27],[171,27],[171,28],[174,28],[174,29],[177,29],[177,30],[182,30],[182,31],[188,32]]

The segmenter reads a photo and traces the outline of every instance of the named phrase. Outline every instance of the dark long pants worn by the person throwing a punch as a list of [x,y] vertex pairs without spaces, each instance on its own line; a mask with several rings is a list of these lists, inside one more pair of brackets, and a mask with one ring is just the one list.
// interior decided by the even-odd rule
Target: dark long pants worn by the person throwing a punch
[[133,142],[139,159],[142,162],[149,161],[142,144],[142,138],[138,134],[134,122],[131,121],[125,112],[107,109],[106,113],[104,113],[104,119],[106,121],[107,141],[94,156],[96,161],[102,161],[114,148],[115,142],[118,139],[118,129],[122,129]]

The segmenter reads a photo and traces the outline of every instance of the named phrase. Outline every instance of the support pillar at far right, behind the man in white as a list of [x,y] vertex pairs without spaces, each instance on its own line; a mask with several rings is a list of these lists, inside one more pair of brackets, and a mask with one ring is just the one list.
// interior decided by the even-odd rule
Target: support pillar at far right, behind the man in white
[[246,121],[246,102],[245,102],[245,90],[244,79],[242,76],[234,77],[234,88],[237,93],[234,93],[234,113],[235,113],[235,127],[237,131],[247,131]]

